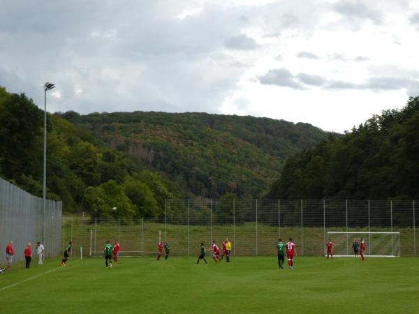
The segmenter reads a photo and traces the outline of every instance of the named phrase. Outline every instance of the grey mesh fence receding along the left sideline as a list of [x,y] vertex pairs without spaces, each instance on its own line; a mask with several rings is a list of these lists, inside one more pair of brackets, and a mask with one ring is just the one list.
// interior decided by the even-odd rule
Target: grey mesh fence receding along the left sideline
[[[45,256],[61,254],[61,202],[47,200],[45,208]],[[14,260],[24,260],[24,246],[32,244],[36,256],[36,242],[43,237],[43,199],[35,197],[0,179],[0,263],[6,262],[6,246],[13,241]]]

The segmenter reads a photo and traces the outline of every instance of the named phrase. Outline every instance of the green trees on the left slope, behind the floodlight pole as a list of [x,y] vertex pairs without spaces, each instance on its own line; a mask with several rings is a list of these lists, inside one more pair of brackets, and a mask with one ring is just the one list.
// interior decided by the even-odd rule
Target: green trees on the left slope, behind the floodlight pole
[[[0,176],[40,197],[43,118],[43,111],[27,96],[0,89]],[[141,195],[133,195],[133,186],[140,188]],[[48,114],[47,198],[62,200],[64,211],[158,218],[164,199],[177,193],[179,188],[148,170],[138,158],[108,147],[56,114]]]

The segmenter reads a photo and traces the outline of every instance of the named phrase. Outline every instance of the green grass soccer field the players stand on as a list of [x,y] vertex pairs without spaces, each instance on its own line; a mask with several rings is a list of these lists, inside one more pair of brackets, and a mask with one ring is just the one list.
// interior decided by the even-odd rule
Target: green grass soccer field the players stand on
[[0,274],[2,313],[418,313],[414,257],[59,260]]

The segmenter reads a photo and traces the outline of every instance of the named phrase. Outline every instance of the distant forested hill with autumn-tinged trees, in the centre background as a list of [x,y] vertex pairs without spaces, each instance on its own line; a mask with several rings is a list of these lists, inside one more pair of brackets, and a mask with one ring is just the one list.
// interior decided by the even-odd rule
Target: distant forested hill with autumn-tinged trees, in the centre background
[[218,114],[59,115],[209,197],[263,193],[286,158],[328,136],[310,124]]

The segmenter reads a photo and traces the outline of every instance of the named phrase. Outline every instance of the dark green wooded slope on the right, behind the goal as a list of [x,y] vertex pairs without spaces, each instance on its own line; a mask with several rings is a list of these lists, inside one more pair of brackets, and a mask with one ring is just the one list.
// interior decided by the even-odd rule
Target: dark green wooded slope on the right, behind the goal
[[419,97],[288,159],[271,197],[418,199]]

